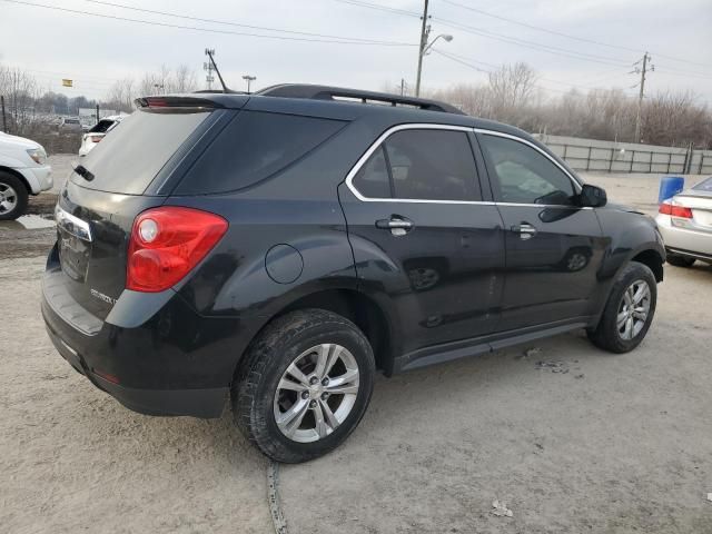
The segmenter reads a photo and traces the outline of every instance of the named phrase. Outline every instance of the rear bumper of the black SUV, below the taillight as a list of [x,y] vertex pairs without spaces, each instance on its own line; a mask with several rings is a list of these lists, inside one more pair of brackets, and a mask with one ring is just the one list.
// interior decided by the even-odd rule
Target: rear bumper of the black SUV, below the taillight
[[[61,294],[57,276],[65,275],[51,254],[42,283],[42,317],[52,344],[75,369],[142,414],[220,416],[256,324],[202,317],[172,291],[158,301],[156,294],[146,294],[144,300],[128,295],[128,306],[119,297],[113,310],[123,309],[115,314],[123,323],[112,324]],[[134,327],[129,323],[136,317],[142,318]]]

